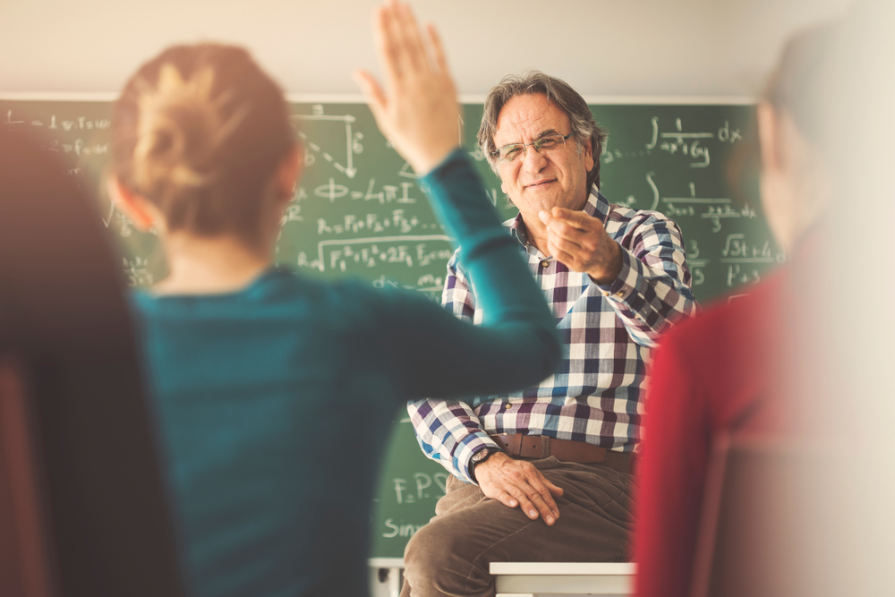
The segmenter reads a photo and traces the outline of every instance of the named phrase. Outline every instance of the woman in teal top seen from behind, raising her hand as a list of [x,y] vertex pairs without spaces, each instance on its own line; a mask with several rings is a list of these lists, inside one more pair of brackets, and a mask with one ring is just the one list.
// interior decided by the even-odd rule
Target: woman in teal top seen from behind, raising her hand
[[456,147],[434,30],[398,3],[375,30],[385,87],[360,80],[481,280],[482,328],[421,294],[274,265],[303,160],[282,91],[245,50],[168,48],[115,105],[109,187],[155,227],[170,270],[133,304],[195,595],[367,593],[371,495],[398,406],[522,388],[558,359],[550,311]]

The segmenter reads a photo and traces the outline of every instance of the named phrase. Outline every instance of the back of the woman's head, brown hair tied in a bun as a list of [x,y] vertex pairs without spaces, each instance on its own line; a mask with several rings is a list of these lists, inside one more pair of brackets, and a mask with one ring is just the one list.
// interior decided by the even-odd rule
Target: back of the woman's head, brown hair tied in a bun
[[169,231],[255,240],[272,176],[294,148],[283,92],[241,47],[169,47],[115,104],[115,175]]

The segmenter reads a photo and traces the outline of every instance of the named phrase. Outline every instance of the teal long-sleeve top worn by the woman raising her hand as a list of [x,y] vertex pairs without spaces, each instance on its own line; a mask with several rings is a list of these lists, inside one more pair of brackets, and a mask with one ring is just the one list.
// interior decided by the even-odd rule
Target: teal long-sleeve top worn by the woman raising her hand
[[286,269],[234,293],[133,295],[191,594],[367,594],[398,406],[524,388],[557,363],[550,311],[463,152],[422,182],[482,327],[420,294]]

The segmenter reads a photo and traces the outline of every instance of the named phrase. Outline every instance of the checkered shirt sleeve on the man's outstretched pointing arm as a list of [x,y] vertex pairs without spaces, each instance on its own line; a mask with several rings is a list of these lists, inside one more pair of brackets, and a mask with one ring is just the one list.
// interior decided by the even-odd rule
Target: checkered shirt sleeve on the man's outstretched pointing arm
[[[678,225],[656,212],[626,227],[618,278],[599,286],[639,345],[655,346],[675,321],[696,312]],[[630,249],[625,249],[625,246]]]

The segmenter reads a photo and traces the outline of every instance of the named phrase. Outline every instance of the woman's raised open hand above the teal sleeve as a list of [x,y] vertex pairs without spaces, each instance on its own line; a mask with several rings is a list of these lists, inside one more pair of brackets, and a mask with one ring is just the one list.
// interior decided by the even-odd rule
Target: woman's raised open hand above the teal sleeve
[[423,175],[459,145],[456,90],[438,34],[422,33],[410,8],[396,0],[373,14],[373,37],[385,89],[358,71],[361,87],[379,130],[417,174]]

